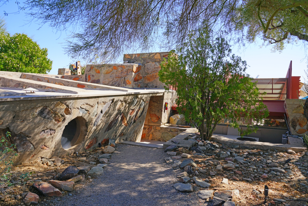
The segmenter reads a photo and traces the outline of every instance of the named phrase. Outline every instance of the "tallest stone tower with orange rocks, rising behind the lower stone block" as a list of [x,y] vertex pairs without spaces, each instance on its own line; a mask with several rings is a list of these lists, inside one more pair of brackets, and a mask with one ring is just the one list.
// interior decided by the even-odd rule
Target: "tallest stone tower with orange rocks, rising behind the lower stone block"
[[158,71],[163,59],[168,59],[168,52],[124,54],[124,63],[137,64],[136,75],[132,81],[133,88],[161,88],[165,84],[159,81]]

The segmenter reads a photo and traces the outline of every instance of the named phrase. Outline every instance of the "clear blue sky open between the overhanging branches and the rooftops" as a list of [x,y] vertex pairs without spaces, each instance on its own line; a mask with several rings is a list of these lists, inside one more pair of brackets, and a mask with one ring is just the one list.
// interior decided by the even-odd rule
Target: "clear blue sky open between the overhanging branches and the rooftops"
[[[6,11],[7,13],[18,11],[14,1],[1,6],[0,9],[0,15],[2,16],[2,11]],[[43,27],[39,29],[40,25],[35,22],[27,24],[26,16],[22,11],[19,14],[9,14],[5,19],[7,31],[10,34],[25,33],[36,41],[41,48],[48,49],[48,58],[53,61],[52,69],[49,74],[58,74],[59,68],[68,68],[71,62],[78,61],[72,60],[65,54],[62,48],[65,39],[70,33],[56,32],[47,25],[43,25]],[[307,69],[305,48],[287,45],[282,53],[272,53],[270,46],[260,48],[259,45],[261,44],[262,42],[251,44],[245,51],[243,51],[243,49],[238,51],[237,46],[234,46],[233,49],[233,53],[241,56],[243,60],[247,61],[249,65],[247,73],[250,74],[251,77],[255,78],[257,75],[260,75],[259,78],[284,78],[286,77],[286,72],[292,60],[292,75],[301,76],[301,81],[304,81],[304,70]],[[156,50],[150,52],[164,51]],[[119,57],[119,63],[123,63],[120,61],[121,58],[122,57]]]

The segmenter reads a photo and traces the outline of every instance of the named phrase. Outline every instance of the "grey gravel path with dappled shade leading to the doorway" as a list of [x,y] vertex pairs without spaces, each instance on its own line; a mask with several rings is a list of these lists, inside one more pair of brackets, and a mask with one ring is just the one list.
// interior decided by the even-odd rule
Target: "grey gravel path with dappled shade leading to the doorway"
[[164,162],[167,156],[163,149],[159,148],[117,144],[103,174],[82,188],[77,187],[72,192],[73,196],[65,195],[58,200],[51,200],[51,204],[199,205],[196,192],[181,193],[172,187],[177,182],[175,174],[180,171],[175,173],[172,165]]

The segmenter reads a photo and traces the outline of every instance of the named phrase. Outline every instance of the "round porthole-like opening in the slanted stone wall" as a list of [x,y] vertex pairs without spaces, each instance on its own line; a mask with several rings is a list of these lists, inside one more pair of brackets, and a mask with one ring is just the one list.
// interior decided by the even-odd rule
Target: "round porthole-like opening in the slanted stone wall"
[[65,127],[61,137],[63,149],[69,149],[74,145],[83,142],[87,134],[87,121],[82,117],[76,117]]

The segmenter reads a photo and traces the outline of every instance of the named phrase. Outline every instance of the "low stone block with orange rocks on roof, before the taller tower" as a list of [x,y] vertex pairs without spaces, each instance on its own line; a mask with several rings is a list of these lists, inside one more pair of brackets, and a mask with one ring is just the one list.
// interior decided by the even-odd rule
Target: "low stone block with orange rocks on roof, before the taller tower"
[[83,81],[108,86],[134,88],[136,64],[93,64],[87,65]]

